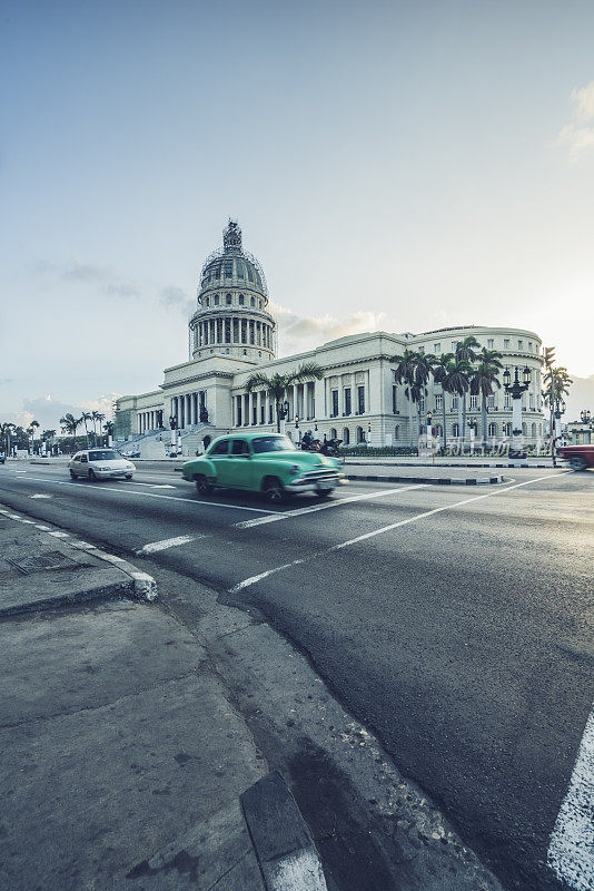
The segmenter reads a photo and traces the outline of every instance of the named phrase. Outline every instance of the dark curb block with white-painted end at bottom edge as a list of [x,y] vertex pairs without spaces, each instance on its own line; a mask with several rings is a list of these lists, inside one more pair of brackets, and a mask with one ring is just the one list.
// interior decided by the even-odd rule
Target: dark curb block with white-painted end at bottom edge
[[263,776],[240,801],[267,891],[327,891],[316,846],[283,775]]

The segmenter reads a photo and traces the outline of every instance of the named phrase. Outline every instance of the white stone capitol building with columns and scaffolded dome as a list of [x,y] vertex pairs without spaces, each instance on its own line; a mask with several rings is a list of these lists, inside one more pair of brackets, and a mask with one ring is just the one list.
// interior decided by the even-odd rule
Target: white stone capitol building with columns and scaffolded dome
[[[316,363],[321,380],[305,381],[287,392],[286,432],[294,440],[305,430],[338,438],[345,444],[406,447],[410,432],[416,443],[417,410],[409,427],[405,384],[398,383],[390,358],[405,349],[433,353],[437,359],[454,352],[473,335],[481,346],[497,350],[502,362],[521,371],[528,366],[532,380],[523,394],[525,444],[543,438],[541,339],[532,331],[505,327],[446,327],[423,334],[385,331],[353,334],[324,343],[315,350],[277,358],[276,322],[263,267],[244,249],[241,229],[230,221],[222,247],[210,254],[200,273],[197,309],[189,321],[191,359],[165,369],[157,390],[121,396],[116,402],[115,440],[130,444],[141,457],[169,453],[171,428],[178,428],[184,456],[192,456],[215,437],[241,428],[250,432],[276,430],[275,407],[264,390],[248,393],[246,383],[257,370],[268,376],[296,371],[301,363]],[[444,393],[432,379],[422,398],[422,432],[426,412],[443,440],[443,401],[446,400],[446,435],[459,438],[457,396]],[[487,400],[487,438],[501,443],[512,434],[512,401],[503,386]],[[481,431],[481,396],[467,395],[467,418]],[[296,423],[298,425],[296,425]],[[466,438],[467,439],[467,438]]]

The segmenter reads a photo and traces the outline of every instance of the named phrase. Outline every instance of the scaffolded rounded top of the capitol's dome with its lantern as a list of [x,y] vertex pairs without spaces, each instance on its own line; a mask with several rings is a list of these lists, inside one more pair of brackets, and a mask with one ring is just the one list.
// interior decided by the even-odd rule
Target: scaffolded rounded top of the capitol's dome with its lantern
[[201,303],[202,294],[208,291],[228,285],[256,291],[268,302],[264,270],[255,256],[244,251],[241,229],[236,219],[229,219],[222,232],[222,247],[209,254],[204,262],[198,303]]

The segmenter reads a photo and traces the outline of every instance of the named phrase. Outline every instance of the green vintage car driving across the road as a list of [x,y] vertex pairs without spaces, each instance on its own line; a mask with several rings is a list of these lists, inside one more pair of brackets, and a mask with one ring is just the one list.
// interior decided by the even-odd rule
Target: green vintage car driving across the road
[[181,476],[195,482],[200,495],[217,486],[281,501],[291,492],[328,496],[344,480],[339,467],[337,458],[299,451],[279,433],[235,433],[219,437],[204,456],[187,461]]

